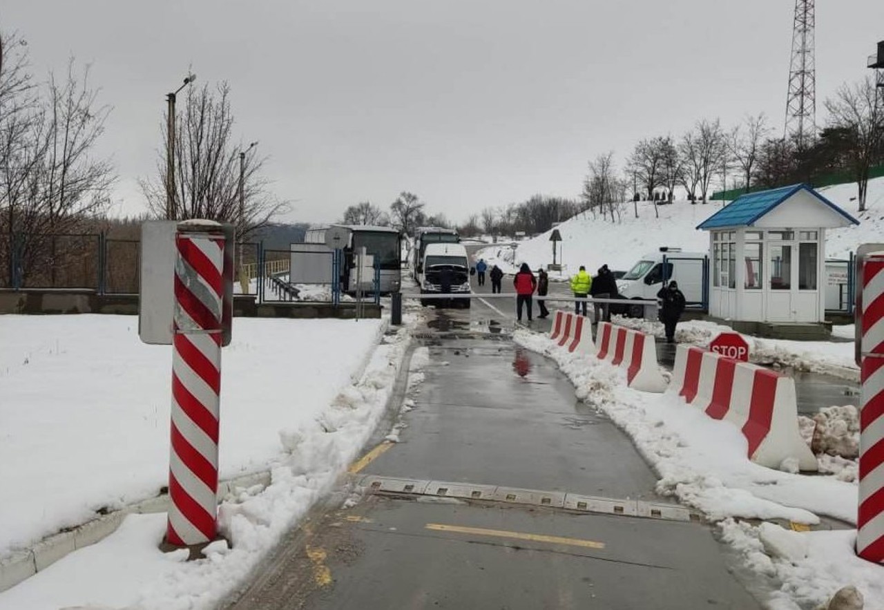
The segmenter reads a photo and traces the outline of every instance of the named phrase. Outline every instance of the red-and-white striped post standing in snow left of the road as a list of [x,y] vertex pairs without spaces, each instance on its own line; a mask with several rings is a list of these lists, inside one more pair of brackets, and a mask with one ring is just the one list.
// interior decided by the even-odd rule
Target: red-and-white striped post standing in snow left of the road
[[205,220],[175,235],[171,373],[171,507],[166,543],[202,545],[216,535],[225,237]]

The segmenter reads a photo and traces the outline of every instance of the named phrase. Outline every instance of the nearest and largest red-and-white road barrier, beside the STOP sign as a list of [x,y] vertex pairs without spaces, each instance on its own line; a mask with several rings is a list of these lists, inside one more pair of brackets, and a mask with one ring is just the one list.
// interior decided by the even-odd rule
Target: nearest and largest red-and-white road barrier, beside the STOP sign
[[796,458],[799,469],[817,469],[817,459],[798,432],[795,380],[791,377],[680,345],[671,387],[688,404],[743,431],[751,461],[778,469],[786,458]]

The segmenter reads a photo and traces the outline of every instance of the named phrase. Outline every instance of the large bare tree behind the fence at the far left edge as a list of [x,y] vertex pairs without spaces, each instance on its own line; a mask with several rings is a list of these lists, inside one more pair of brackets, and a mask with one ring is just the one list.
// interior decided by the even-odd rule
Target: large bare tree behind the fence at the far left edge
[[7,78],[0,84],[0,190],[7,206],[6,233],[17,235],[19,279],[24,281],[36,269],[49,269],[51,286],[57,255],[73,255],[71,248],[56,251],[56,236],[75,232],[110,202],[116,177],[109,160],[95,157],[95,142],[110,108],[98,105],[88,67],[80,73],[71,60],[65,80],[50,74],[40,95],[24,73],[27,59],[10,64],[10,57],[14,55],[4,55]]

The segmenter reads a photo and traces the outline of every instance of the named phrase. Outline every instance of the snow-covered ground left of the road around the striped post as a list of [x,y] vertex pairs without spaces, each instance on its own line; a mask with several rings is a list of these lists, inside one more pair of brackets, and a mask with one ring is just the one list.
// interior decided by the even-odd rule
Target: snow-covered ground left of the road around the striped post
[[[408,347],[407,329],[384,328],[237,318],[222,364],[220,476],[269,470],[272,482],[219,508],[232,549],[216,543],[185,562],[157,550],[164,514],[129,515],[0,593],[0,608],[212,606],[370,438]],[[0,316],[0,336],[2,559],[166,484],[171,348],[141,344],[133,316]]]

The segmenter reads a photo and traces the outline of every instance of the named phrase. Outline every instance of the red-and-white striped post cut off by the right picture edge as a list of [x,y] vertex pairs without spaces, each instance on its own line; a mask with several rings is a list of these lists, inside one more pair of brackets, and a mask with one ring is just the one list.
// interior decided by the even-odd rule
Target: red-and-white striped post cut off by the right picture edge
[[884,563],[884,252],[863,263],[857,554]]

